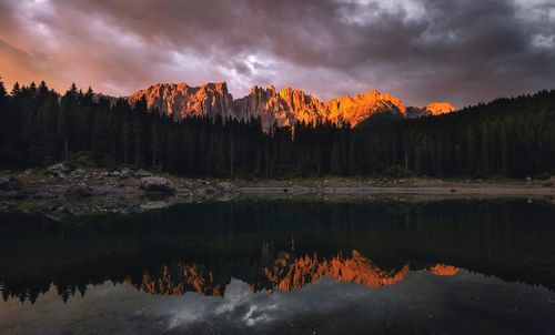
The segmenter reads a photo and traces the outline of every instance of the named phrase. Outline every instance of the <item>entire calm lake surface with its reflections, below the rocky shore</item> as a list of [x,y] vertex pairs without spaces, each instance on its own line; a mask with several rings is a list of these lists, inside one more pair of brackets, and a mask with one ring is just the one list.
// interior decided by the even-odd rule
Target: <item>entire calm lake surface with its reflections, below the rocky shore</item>
[[555,205],[0,214],[0,334],[555,334]]

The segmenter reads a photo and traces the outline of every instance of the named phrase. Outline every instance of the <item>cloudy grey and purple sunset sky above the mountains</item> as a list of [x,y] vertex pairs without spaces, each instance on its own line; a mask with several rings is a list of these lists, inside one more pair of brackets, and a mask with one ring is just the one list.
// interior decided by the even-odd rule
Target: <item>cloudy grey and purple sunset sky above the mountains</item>
[[128,95],[159,82],[379,90],[461,108],[555,89],[553,0],[0,0],[0,77]]

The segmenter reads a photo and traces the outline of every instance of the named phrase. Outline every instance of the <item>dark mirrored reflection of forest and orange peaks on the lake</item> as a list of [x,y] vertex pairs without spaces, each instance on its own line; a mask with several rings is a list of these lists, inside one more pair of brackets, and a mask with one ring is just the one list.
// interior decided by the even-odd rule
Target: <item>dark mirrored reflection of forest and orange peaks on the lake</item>
[[505,201],[423,203],[249,201],[183,204],[53,222],[0,214],[2,297],[67,301],[89,285],[151,294],[291,292],[322,277],[380,288],[410,271],[458,267],[555,290],[555,206]]

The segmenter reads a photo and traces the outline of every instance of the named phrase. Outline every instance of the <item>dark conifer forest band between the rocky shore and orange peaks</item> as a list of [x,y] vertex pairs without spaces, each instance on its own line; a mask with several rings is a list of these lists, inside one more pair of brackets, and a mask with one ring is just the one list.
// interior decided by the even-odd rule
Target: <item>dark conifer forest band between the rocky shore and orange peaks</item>
[[297,123],[264,132],[260,120],[173,118],[144,100],[44,82],[0,82],[0,166],[24,169],[87,156],[185,175],[524,176],[555,171],[555,91],[497,99],[457,113],[349,124]]

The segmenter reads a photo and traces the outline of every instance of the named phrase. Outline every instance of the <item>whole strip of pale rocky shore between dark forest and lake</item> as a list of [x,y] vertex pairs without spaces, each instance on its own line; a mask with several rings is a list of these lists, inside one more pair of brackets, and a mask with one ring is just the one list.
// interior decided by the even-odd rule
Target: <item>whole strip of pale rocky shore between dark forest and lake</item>
[[427,179],[188,179],[141,169],[113,171],[60,163],[0,173],[0,212],[39,212],[53,220],[92,213],[132,213],[175,203],[260,195],[539,196],[555,203],[555,176],[525,181]]

